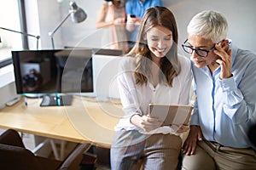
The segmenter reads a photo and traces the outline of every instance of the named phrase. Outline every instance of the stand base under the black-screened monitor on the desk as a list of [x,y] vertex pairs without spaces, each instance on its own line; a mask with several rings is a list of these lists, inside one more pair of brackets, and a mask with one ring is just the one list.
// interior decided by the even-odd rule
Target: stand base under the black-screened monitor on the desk
[[73,95],[69,94],[44,95],[40,106],[71,105],[72,99]]

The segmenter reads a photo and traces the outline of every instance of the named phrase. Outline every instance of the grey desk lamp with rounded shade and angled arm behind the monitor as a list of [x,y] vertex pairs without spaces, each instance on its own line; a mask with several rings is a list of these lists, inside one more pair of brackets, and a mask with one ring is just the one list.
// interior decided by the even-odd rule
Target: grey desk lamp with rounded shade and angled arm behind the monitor
[[69,16],[71,16],[72,21],[74,23],[83,22],[87,18],[87,14],[84,12],[82,8],[79,8],[76,3],[70,2],[69,6],[70,6],[70,9],[66,18],[64,18],[64,20],[62,20],[61,23],[58,26],[56,26],[54,31],[49,32],[49,37],[51,38],[51,44],[53,49],[55,48],[55,43],[53,38],[55,31],[57,31],[62,26],[62,24],[67,20]]

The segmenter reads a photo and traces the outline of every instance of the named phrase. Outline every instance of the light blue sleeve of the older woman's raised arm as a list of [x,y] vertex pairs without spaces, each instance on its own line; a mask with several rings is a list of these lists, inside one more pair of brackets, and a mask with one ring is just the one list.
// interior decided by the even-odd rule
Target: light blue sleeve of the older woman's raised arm
[[224,113],[234,124],[256,122],[255,68],[256,61],[248,63],[239,84],[236,84],[234,76],[220,80],[223,90]]

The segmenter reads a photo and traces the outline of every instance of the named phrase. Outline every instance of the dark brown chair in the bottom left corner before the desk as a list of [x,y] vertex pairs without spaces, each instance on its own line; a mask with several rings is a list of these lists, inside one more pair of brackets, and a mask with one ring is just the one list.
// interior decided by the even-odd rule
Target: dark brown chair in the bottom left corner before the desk
[[0,136],[0,169],[76,170],[80,169],[83,154],[89,149],[90,144],[79,144],[64,161],[56,161],[34,155],[25,148],[20,134],[8,129]]

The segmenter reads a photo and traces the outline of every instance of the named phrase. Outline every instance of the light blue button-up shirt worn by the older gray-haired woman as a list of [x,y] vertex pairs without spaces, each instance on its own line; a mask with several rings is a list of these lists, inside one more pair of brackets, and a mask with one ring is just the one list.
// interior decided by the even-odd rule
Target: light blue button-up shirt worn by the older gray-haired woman
[[197,98],[190,125],[199,125],[208,141],[253,147],[247,130],[256,122],[256,55],[233,46],[231,58],[233,77],[224,80],[220,66],[211,74],[207,66],[200,69],[192,62]]

